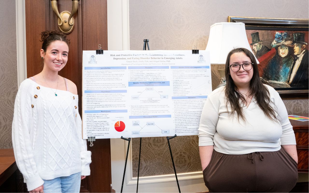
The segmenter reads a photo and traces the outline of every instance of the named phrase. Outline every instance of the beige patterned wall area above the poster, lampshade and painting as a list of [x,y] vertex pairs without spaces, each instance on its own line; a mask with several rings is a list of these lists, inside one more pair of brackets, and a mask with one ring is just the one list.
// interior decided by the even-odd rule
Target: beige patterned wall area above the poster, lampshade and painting
[[228,16],[308,19],[304,0],[130,0],[130,50],[205,50],[210,26]]

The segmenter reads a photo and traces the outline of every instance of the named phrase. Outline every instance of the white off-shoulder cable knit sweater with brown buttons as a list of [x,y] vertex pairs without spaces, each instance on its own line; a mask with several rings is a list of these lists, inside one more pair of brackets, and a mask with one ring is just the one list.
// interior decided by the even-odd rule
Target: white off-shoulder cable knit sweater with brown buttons
[[82,139],[78,95],[41,86],[29,78],[15,99],[12,141],[28,191],[45,180],[90,175],[91,152]]

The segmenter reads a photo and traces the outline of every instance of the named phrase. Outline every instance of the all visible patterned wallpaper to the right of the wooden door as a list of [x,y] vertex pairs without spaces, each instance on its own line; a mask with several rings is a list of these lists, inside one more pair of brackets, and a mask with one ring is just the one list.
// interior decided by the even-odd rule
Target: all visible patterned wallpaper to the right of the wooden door
[[[205,50],[210,26],[227,22],[228,16],[308,19],[303,0],[153,0],[129,1],[130,50],[142,50],[149,39],[151,50],[189,50],[194,44]],[[213,87],[218,71],[212,68]],[[224,68],[224,67],[223,67]],[[284,100],[289,114],[308,112],[308,99]],[[170,140],[177,173],[201,171],[197,136]],[[166,137],[142,138],[140,176],[173,174]],[[137,177],[139,138],[132,139],[133,177]]]

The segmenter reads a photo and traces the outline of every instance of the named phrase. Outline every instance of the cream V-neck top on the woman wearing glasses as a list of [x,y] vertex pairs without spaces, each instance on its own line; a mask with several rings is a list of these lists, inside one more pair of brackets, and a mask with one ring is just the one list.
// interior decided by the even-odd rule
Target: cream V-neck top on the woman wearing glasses
[[279,94],[265,85],[270,100],[275,104],[279,123],[270,120],[252,98],[248,108],[243,107],[246,121],[237,115],[228,116],[225,86],[214,90],[203,108],[198,129],[199,146],[214,145],[214,150],[225,154],[246,154],[252,152],[278,151],[281,145],[295,145],[295,135],[288,119],[286,107]]

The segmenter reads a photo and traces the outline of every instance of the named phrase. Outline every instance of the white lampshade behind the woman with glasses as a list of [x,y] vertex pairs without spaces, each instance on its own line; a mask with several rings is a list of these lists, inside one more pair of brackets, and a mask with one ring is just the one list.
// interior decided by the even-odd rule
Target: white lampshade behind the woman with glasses
[[[244,23],[222,22],[210,26],[206,47],[210,52],[210,64],[225,64],[227,54],[234,48],[247,48],[252,52]],[[259,64],[257,59],[256,62]]]

